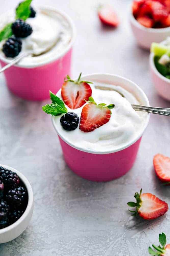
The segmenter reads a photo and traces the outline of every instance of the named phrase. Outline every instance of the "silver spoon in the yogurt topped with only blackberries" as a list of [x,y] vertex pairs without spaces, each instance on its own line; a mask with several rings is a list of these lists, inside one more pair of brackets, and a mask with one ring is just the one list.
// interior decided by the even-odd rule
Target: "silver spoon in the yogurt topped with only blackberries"
[[5,71],[7,68],[10,68],[11,66],[15,65],[16,63],[18,63],[20,60],[22,60],[23,58],[32,55],[34,57],[36,56],[40,56],[41,54],[44,54],[46,52],[48,52],[49,50],[51,50],[59,41],[60,41],[60,37],[57,38],[57,40],[50,45],[50,47],[48,47],[46,50],[43,50],[43,52],[35,54],[33,51],[29,51],[29,52],[25,52],[24,54],[20,55],[19,57],[13,59],[10,63],[8,63],[7,65],[5,65],[3,68],[0,69],[0,73]]

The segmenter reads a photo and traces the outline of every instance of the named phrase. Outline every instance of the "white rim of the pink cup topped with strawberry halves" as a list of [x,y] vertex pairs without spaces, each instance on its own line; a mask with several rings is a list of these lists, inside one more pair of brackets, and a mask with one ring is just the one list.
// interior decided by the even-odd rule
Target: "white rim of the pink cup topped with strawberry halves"
[[[119,78],[120,80],[122,80],[124,83],[125,82],[128,82],[128,83],[131,83],[133,86],[135,86],[135,88],[138,90],[138,92],[141,93],[141,95],[143,96],[143,99],[146,101],[146,105],[149,106],[149,100],[146,96],[146,94],[143,92],[143,90],[134,82],[132,82],[131,80],[127,79],[127,78],[124,78],[122,76],[118,76],[118,75],[114,75],[114,74],[109,74],[109,73],[92,73],[92,74],[86,74],[84,76],[82,76],[82,78],[84,79],[87,79],[89,81],[90,77],[93,77],[93,76],[107,76],[107,77],[112,77],[113,79],[114,78]],[[61,89],[60,89],[61,90]],[[60,91],[59,90],[59,91]],[[57,92],[58,93],[58,92]],[[51,117],[51,121],[53,123],[53,126],[54,126],[54,129],[56,130],[57,134],[60,136],[60,138],[66,142],[68,145],[70,145],[71,147],[73,148],[76,148],[77,150],[80,150],[80,151],[83,151],[83,152],[86,152],[86,153],[91,153],[91,154],[100,154],[100,155],[104,155],[104,154],[111,154],[111,153],[115,153],[115,152],[118,152],[118,151],[121,151],[121,150],[124,150],[125,148],[131,146],[132,144],[134,144],[136,141],[139,140],[139,138],[143,135],[144,131],[146,130],[147,126],[148,126],[148,123],[149,123],[149,118],[150,118],[150,114],[147,115],[146,117],[146,122],[145,122],[145,125],[143,126],[143,129],[141,130],[141,132],[134,137],[133,140],[131,140],[129,143],[127,143],[126,145],[124,146],[121,146],[120,148],[116,149],[116,150],[108,150],[108,151],[95,151],[95,150],[90,150],[90,149],[85,149],[85,148],[81,148],[81,147],[78,147],[78,146],[75,146],[73,143],[69,142],[66,138],[64,138],[61,134],[58,133],[58,130],[57,130],[57,125],[55,123],[55,119],[54,119],[54,116]]]

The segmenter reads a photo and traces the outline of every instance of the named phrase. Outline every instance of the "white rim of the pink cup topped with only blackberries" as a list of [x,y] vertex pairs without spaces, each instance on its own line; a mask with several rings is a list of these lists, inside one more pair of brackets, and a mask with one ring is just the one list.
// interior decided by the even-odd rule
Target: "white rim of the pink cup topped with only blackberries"
[[[43,65],[47,65],[51,62],[54,62],[58,59],[60,59],[61,57],[63,57],[70,49],[71,47],[73,46],[74,42],[75,42],[75,38],[76,38],[76,28],[75,28],[75,25],[74,25],[74,22],[73,20],[70,18],[69,15],[67,15],[65,12],[55,8],[55,7],[52,7],[52,6],[49,6],[49,5],[40,5],[39,8],[44,8],[44,9],[49,9],[51,11],[55,11],[57,13],[59,13],[60,15],[62,15],[67,21],[68,23],[70,24],[70,27],[71,27],[71,30],[72,30],[72,37],[71,37],[71,41],[69,42],[68,46],[60,53],[58,54],[57,56],[53,56],[47,60],[44,60],[40,63],[33,63],[33,64],[29,64],[29,65],[26,65],[26,64],[16,64],[14,65],[15,67],[20,67],[20,68],[35,68],[35,67],[41,67]],[[11,10],[9,10],[8,12],[11,12]],[[6,13],[8,13],[6,12]],[[4,14],[2,14],[1,16],[3,16]],[[5,63],[10,63],[11,60],[8,60],[6,59],[2,54],[0,54],[0,60],[2,60],[3,62]]]

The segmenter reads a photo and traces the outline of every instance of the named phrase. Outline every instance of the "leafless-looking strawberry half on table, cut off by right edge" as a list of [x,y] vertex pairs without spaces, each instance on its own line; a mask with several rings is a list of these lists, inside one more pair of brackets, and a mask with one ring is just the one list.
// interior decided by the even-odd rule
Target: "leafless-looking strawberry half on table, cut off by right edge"
[[163,182],[170,182],[170,158],[157,154],[153,158],[155,173]]

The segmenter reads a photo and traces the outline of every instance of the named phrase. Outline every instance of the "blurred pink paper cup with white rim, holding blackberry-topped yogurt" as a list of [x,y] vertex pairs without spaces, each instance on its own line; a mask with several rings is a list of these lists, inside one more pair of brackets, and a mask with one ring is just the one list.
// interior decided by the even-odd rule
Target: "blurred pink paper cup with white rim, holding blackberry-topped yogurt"
[[[70,25],[72,39],[66,49],[40,63],[20,65],[19,63],[4,71],[8,89],[20,98],[31,101],[41,101],[49,98],[49,90],[56,93],[62,86],[64,77],[70,74],[72,47],[75,41],[75,26],[71,18],[49,6],[41,9],[49,9],[61,15]],[[1,66],[4,67],[11,60],[0,55]]]

